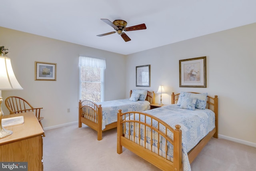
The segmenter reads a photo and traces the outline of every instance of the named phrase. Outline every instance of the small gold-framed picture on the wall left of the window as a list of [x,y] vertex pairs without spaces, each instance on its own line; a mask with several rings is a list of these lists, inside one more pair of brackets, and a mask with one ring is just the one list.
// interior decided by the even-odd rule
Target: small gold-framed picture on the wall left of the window
[[35,62],[35,81],[56,81],[57,64]]

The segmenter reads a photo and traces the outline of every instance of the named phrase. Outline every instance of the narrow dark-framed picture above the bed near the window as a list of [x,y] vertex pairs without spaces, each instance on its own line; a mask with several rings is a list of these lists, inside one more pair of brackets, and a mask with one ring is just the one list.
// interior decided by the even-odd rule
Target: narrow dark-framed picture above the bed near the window
[[136,87],[150,87],[150,65],[136,66]]

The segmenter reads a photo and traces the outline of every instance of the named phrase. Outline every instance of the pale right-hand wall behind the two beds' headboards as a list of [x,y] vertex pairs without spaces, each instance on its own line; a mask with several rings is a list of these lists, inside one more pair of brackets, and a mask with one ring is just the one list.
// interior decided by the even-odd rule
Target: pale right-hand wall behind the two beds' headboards
[[[219,97],[219,134],[256,145],[256,23],[128,55],[126,97],[133,88]],[[206,56],[207,88],[179,87],[179,60]],[[136,87],[136,66],[151,66],[151,86]],[[156,102],[160,95],[156,94]]]

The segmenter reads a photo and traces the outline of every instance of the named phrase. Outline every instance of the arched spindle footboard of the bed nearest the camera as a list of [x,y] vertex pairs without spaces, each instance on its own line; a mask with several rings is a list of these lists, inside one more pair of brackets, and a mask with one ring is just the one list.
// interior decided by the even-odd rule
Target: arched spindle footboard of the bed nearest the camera
[[[132,115],[138,115],[139,119],[131,117]],[[129,117],[129,120],[126,120]],[[146,123],[146,117],[151,119],[151,123]],[[121,110],[118,112],[117,119],[117,153],[122,153],[122,146],[126,147],[130,151],[136,153],[146,161],[159,167],[162,170],[181,171],[182,170],[182,131],[180,125],[176,125],[176,129],[170,127],[164,121],[158,119],[147,113],[142,112],[126,112],[122,113]],[[154,127],[152,122],[157,122],[158,127]],[[125,125],[129,125],[126,127]],[[132,125],[132,128],[131,128]],[[141,135],[140,131],[133,132],[131,129],[144,130],[144,134]],[[160,130],[165,130],[162,132]],[[130,129],[131,128],[131,129]],[[149,129],[148,129],[149,128]],[[128,129],[128,130],[127,130]],[[147,132],[149,131],[149,132]],[[128,132],[128,136],[124,133]],[[170,132],[173,133],[173,140],[168,136]],[[154,135],[153,135],[154,133]],[[157,135],[156,135],[157,134]],[[148,138],[146,138],[146,135]],[[148,136],[149,135],[149,136]],[[144,136],[144,137],[143,137]],[[153,136],[157,137],[157,147],[153,147]],[[150,144],[146,143],[141,139],[147,139]],[[164,150],[160,150],[160,139],[161,142],[165,141]],[[164,139],[164,140],[163,140]],[[168,159],[167,156],[167,145],[171,143],[174,147],[173,160]],[[163,151],[163,152],[162,152]]]

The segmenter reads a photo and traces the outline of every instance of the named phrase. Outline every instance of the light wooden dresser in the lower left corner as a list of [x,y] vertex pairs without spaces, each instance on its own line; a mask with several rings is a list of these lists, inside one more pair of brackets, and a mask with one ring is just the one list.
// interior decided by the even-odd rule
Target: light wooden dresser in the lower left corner
[[0,139],[0,161],[28,162],[28,171],[43,171],[43,133],[32,112],[4,115],[3,118],[24,116],[24,123],[5,127],[12,135]]

